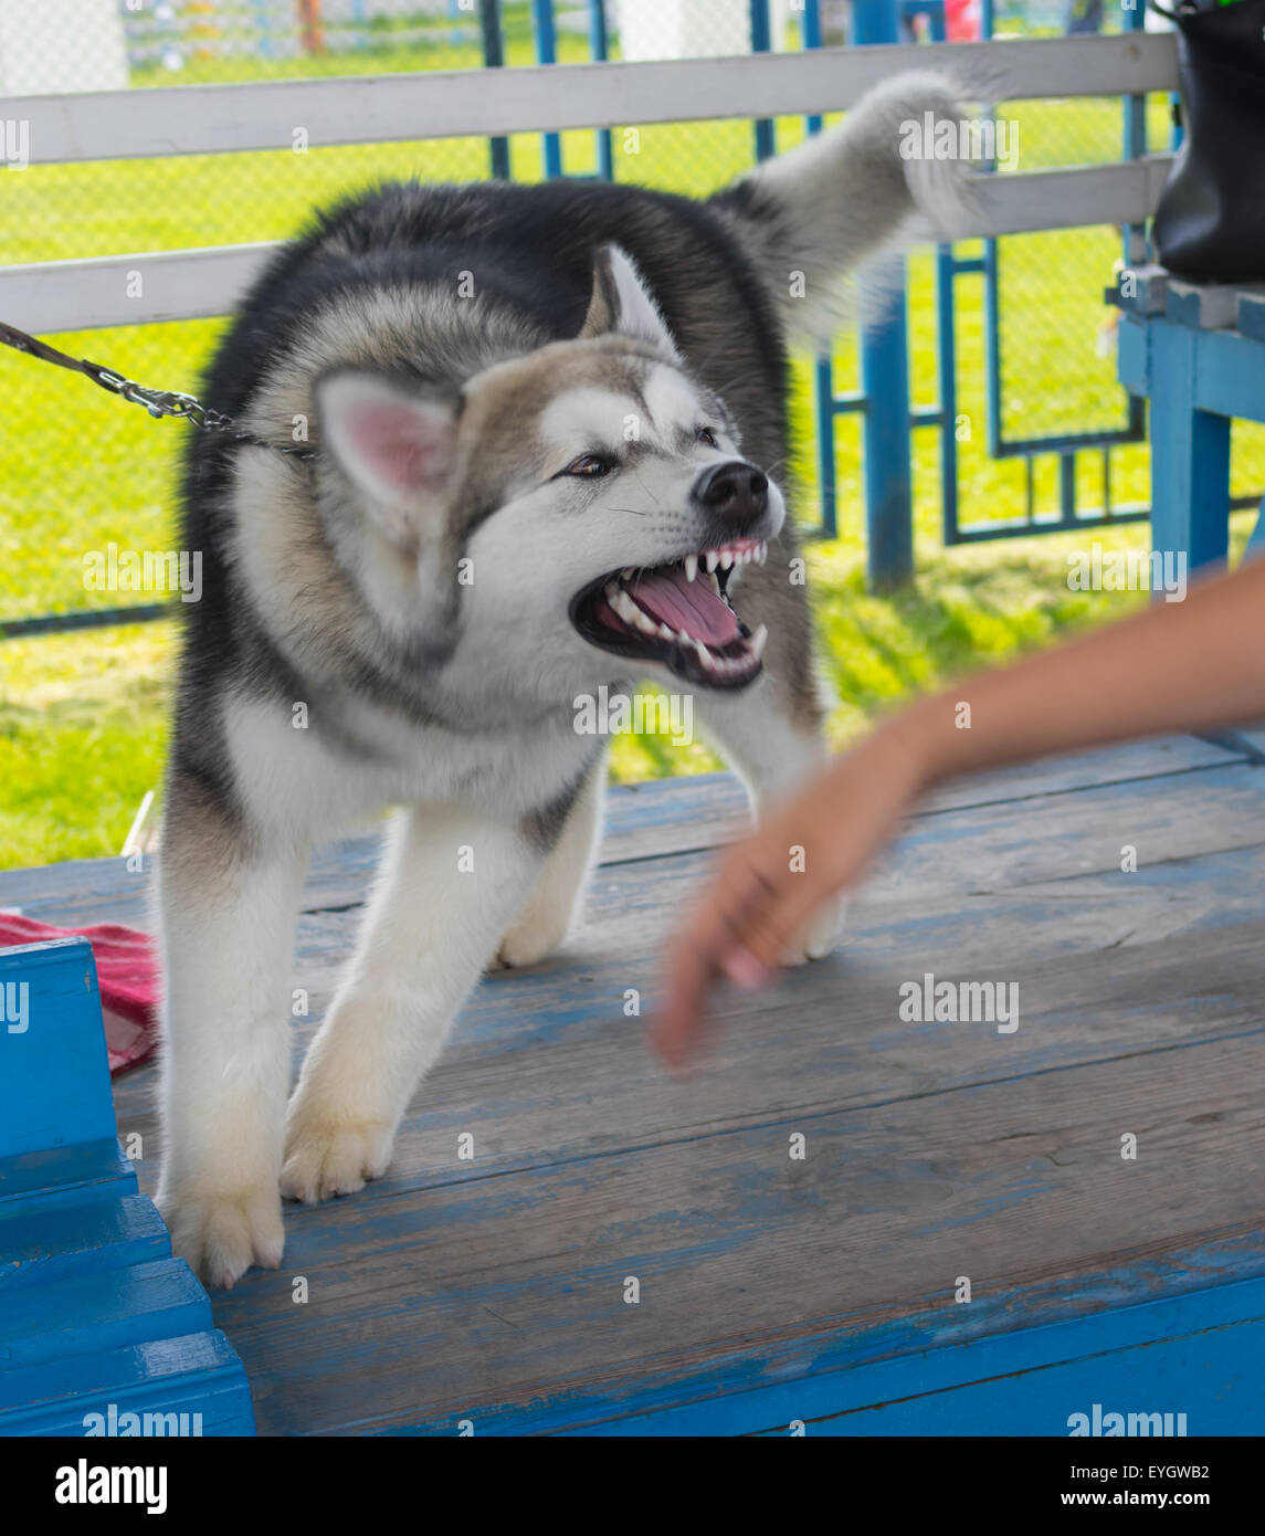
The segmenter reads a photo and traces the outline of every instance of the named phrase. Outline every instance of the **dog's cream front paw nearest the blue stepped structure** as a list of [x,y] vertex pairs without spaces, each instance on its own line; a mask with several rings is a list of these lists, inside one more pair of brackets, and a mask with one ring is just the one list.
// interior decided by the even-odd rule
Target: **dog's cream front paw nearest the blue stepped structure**
[[252,1264],[281,1266],[286,1233],[270,1180],[244,1192],[187,1186],[160,1193],[157,1204],[172,1233],[172,1252],[204,1286],[227,1290]]

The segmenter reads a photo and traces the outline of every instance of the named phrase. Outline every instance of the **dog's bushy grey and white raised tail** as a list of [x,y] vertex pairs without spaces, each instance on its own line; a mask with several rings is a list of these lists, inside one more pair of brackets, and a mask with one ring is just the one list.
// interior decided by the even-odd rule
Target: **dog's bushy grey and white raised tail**
[[[930,118],[927,117],[930,114]],[[786,330],[824,341],[852,309],[849,276],[912,240],[952,240],[975,207],[970,166],[935,158],[929,124],[966,121],[933,71],[884,80],[837,127],[757,166],[712,204],[731,220]],[[913,152],[910,152],[913,151]]]

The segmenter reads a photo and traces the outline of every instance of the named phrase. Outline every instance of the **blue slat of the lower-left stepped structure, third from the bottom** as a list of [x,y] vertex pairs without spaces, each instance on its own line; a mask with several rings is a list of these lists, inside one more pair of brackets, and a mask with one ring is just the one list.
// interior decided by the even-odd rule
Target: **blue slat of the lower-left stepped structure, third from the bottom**
[[9,1215],[0,1206],[0,1296],[170,1256],[167,1229],[144,1195],[98,1195],[74,1206],[28,1201]]

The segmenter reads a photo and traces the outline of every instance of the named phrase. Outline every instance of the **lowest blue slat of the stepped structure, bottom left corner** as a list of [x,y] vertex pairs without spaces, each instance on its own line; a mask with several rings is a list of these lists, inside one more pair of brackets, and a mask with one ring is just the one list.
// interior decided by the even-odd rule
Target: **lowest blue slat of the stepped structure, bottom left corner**
[[[218,1329],[0,1372],[0,1435],[126,1433],[127,1413],[149,1415],[150,1435],[255,1433],[246,1373]],[[189,1419],[154,1418],[170,1413]]]

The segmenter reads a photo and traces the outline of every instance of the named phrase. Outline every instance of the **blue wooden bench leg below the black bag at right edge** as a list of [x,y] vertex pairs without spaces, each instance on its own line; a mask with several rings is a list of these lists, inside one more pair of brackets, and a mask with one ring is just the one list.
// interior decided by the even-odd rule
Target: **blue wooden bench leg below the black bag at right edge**
[[1151,547],[1185,550],[1196,568],[1227,556],[1230,419],[1194,406],[1201,332],[1150,330]]

